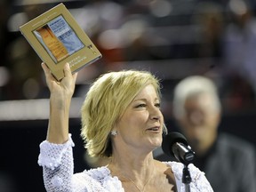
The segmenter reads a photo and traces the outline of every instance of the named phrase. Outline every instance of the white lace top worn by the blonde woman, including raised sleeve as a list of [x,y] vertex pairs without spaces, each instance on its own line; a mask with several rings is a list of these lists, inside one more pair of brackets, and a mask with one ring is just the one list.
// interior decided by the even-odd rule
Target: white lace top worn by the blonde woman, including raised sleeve
[[[124,192],[122,182],[115,176],[112,177],[107,166],[85,170],[84,172],[73,173],[74,143],[69,140],[64,144],[52,144],[44,140],[40,144],[40,155],[38,164],[43,166],[44,186],[48,192]],[[185,185],[182,183],[183,164],[166,162],[172,167],[178,192],[185,192]],[[188,165],[192,182],[191,192],[212,192],[212,187],[194,164]]]

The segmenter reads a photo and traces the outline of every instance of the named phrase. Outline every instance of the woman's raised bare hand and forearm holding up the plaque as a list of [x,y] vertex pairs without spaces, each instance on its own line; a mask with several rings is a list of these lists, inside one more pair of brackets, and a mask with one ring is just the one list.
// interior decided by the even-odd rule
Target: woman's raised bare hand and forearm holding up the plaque
[[51,92],[47,140],[61,144],[68,140],[69,107],[75,91],[77,73],[72,75],[67,63],[64,67],[64,77],[59,82],[44,63],[42,68]]

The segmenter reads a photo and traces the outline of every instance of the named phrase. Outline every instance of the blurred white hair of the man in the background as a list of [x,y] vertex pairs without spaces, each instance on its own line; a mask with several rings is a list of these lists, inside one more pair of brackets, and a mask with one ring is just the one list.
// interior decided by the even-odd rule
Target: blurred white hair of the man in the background
[[212,98],[212,109],[220,112],[220,98],[217,87],[213,81],[205,76],[188,76],[180,81],[174,88],[173,115],[181,118],[185,115],[184,104],[188,98],[197,94],[206,93]]

